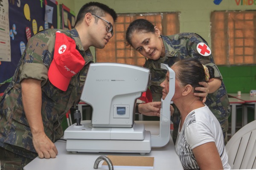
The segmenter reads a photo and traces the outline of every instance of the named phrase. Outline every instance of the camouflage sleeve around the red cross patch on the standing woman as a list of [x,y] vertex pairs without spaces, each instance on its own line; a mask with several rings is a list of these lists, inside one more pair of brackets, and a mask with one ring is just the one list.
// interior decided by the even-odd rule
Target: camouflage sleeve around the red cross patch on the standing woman
[[212,54],[206,57],[206,56],[202,56],[197,51],[198,43],[204,42],[206,45],[208,45],[207,42],[198,34],[193,34],[193,36],[189,40],[190,40],[189,46],[190,46],[190,51],[192,53],[192,56],[199,59],[202,64],[212,66],[212,68],[214,69],[215,78],[222,79],[221,73],[218,67],[214,63]]

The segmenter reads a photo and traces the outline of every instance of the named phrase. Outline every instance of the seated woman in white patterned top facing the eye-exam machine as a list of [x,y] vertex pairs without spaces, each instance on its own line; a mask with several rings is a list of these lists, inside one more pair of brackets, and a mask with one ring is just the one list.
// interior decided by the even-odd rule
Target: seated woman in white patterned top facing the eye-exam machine
[[[211,82],[214,69],[197,59],[181,59],[172,65],[175,72],[175,94],[172,101],[180,111],[180,124],[175,144],[184,169],[230,169],[221,126],[195,88],[199,82]],[[161,83],[163,99],[169,93],[169,72]]]

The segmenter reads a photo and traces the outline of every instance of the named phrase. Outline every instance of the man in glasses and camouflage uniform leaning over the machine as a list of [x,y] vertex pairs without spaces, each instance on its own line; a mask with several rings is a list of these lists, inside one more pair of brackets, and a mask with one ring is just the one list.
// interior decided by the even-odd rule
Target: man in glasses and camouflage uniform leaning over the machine
[[[29,39],[12,82],[0,100],[1,170],[23,169],[36,156],[55,158],[58,151],[54,142],[63,136],[62,119],[79,102],[93,62],[89,47],[105,47],[113,36],[111,28],[116,19],[116,12],[108,6],[87,3],[80,9],[74,29],[48,29]],[[55,80],[48,79],[48,70],[57,55],[57,31],[73,42],[70,53],[77,52],[83,60],[81,69],[73,73],[64,90],[56,87]],[[67,58],[76,58],[70,55]]]

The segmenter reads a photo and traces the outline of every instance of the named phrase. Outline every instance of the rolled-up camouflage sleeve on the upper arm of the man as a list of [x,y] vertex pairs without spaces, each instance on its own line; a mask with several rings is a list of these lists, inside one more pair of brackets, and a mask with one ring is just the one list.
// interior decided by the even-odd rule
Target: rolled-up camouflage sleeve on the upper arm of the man
[[20,81],[23,79],[41,80],[43,86],[48,79],[48,68],[52,62],[55,44],[55,31],[45,30],[31,37],[23,54],[20,66]]

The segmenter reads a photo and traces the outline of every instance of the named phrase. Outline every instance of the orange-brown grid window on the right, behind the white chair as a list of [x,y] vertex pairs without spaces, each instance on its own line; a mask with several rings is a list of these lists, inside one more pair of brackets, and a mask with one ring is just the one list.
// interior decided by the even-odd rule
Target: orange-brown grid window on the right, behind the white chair
[[256,64],[256,11],[214,11],[211,27],[217,65]]

